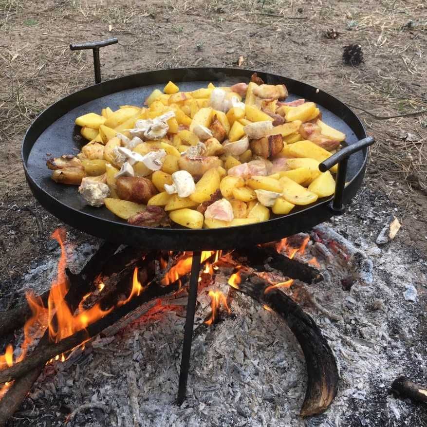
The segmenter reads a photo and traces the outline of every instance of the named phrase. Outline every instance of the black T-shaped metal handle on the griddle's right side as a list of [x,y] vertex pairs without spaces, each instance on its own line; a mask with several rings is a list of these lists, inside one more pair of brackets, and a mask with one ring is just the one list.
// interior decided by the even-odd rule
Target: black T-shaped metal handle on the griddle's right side
[[319,164],[319,170],[321,172],[326,172],[331,167],[338,163],[338,172],[336,174],[335,182],[335,194],[334,200],[331,203],[331,209],[334,211],[335,215],[342,215],[345,212],[345,205],[343,204],[344,188],[347,175],[347,165],[349,157],[351,154],[369,147],[375,142],[375,139],[372,136],[363,138],[360,141],[355,142],[354,144],[348,145],[343,149],[339,150],[331,157],[324,160]]

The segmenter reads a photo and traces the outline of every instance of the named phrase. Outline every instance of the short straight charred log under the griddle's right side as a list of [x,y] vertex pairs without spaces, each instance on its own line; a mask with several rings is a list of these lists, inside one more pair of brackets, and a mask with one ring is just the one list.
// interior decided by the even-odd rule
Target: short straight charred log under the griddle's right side
[[270,247],[253,246],[247,249],[237,249],[233,253],[234,258],[246,257],[247,263],[254,269],[263,271],[264,263],[268,259],[268,265],[286,276],[312,284],[323,280],[323,276],[316,268],[287,258],[277,253]]

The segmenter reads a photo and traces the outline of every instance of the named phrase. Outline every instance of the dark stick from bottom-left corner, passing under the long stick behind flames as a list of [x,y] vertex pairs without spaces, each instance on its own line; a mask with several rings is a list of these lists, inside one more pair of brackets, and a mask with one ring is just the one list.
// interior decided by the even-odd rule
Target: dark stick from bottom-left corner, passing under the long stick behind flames
[[[70,289],[65,296],[65,301],[69,307],[74,311],[80,303],[82,297],[86,294],[87,288],[84,283],[92,283],[95,279],[97,272],[102,269],[105,262],[108,260],[108,255],[112,255],[117,250],[117,245],[113,243],[104,242],[93,257],[87,262],[80,272],[80,276],[73,275],[70,280]],[[99,267],[99,268],[98,268]],[[56,316],[54,316],[56,319]],[[40,341],[38,342],[33,353],[37,353],[49,343],[49,330],[46,330]],[[50,359],[50,358],[49,358]],[[46,359],[46,363],[49,359]],[[24,361],[27,359],[24,359]],[[37,380],[41,371],[43,370],[44,363],[35,365],[32,370],[26,371],[19,376],[17,381],[14,381],[9,390],[0,400],[0,427],[4,426],[7,420],[19,408],[22,400],[30,391],[34,382]],[[18,365],[18,364],[17,364]],[[14,365],[14,366],[17,366]]]

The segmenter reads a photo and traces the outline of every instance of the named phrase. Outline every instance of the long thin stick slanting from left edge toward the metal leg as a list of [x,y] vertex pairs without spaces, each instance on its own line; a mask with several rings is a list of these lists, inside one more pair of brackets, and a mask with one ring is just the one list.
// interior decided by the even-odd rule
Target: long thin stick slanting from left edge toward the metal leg
[[[87,340],[88,337],[95,337],[96,335],[100,334],[104,329],[113,325],[123,316],[126,316],[128,313],[132,312],[140,305],[147,303],[151,299],[159,298],[166,294],[174,292],[178,289],[178,287],[178,283],[171,284],[165,288],[161,287],[157,283],[152,283],[140,296],[132,298],[127,304],[124,304],[121,307],[117,307],[107,316],[104,316],[96,322],[93,322],[85,330],[76,332],[75,334],[62,339],[57,343],[43,343],[41,346],[37,347],[37,349],[30,356],[26,357],[21,362],[17,363],[16,365],[13,365],[10,368],[0,371],[0,384],[7,381],[12,381],[16,378],[20,378],[31,370],[36,369],[37,366],[44,366],[44,364],[48,360],[52,359],[57,354],[61,354],[71,350],[75,346]],[[0,407],[3,400],[4,398],[0,401]]]

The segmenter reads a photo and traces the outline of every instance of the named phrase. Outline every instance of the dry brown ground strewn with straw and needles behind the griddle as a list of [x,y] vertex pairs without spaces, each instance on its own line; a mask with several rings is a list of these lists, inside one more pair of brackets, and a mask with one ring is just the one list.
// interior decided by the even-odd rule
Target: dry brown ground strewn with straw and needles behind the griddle
[[[399,238],[426,248],[427,114],[375,117],[427,107],[426,25],[427,5],[414,0],[0,0],[0,278],[11,283],[48,250],[57,223],[25,184],[24,132],[45,107],[93,83],[92,54],[69,43],[111,36],[119,44],[101,53],[104,79],[234,67],[243,56],[242,67],[307,81],[370,111],[355,109],[378,141],[367,183],[400,205]],[[331,27],[337,40],[324,37]],[[353,42],[366,59],[358,68],[341,60]]]

